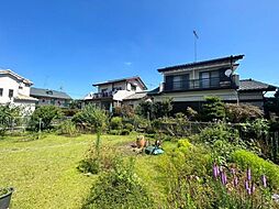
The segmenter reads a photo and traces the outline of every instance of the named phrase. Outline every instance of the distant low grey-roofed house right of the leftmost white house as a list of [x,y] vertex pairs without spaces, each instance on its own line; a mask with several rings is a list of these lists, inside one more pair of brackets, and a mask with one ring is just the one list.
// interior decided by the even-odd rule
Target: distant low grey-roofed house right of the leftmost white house
[[71,97],[68,96],[66,92],[51,90],[51,89],[43,89],[43,88],[31,88],[30,95],[32,97],[37,98],[37,106],[57,106],[62,108],[68,108],[69,102],[71,101]]

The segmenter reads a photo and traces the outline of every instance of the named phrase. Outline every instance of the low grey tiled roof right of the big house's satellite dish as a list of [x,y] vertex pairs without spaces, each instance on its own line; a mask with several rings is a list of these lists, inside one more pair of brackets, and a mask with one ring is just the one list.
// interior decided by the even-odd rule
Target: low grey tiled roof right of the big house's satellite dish
[[263,91],[274,91],[278,87],[274,85],[269,85],[266,82],[261,82],[254,79],[243,79],[239,80],[239,91],[252,91],[252,90],[263,90]]

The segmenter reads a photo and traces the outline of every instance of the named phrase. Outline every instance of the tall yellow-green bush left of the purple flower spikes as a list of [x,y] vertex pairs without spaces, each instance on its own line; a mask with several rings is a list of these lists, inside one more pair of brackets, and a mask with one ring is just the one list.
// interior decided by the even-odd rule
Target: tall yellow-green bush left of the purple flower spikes
[[207,178],[211,166],[210,154],[202,146],[180,141],[179,147],[161,162],[167,188],[166,208],[209,208],[212,198]]

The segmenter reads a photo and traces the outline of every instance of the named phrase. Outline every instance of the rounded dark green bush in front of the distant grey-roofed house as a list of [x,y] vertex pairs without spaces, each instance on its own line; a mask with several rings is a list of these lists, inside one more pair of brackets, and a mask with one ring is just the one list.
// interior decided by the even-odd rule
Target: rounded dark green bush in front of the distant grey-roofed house
[[35,109],[30,119],[29,128],[33,131],[46,130],[52,128],[55,119],[63,117],[62,109],[55,106],[42,106]]

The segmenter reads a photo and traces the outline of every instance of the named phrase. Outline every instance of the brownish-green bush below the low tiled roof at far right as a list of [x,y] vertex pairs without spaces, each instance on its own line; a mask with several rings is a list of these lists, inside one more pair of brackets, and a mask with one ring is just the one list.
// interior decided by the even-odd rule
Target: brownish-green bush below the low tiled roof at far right
[[225,116],[230,122],[239,123],[263,118],[264,112],[252,105],[226,103]]

